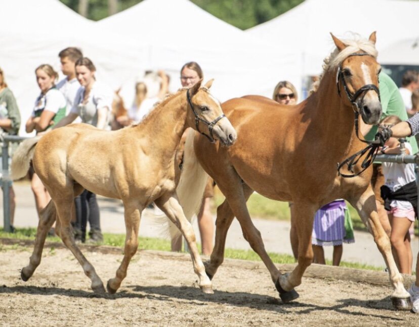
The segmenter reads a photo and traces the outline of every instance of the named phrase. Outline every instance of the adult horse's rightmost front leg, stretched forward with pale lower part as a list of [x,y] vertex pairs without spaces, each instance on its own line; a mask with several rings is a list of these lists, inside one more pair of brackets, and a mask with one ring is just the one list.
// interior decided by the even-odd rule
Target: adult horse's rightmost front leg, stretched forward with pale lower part
[[380,223],[375,204],[375,196],[371,187],[368,187],[359,198],[353,198],[350,202],[358,210],[359,216],[374,237],[374,242],[377,244],[389,269],[390,281],[394,288],[391,296],[393,306],[398,310],[410,310],[412,307],[410,296],[403,286],[403,277],[399,273],[394,261],[390,239]]

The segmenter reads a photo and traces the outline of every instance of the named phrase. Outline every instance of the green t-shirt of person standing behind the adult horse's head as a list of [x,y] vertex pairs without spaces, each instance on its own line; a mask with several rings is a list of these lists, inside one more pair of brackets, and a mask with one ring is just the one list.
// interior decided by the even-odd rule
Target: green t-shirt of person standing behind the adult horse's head
[[[381,72],[379,75],[379,88],[380,88],[380,97],[381,97],[381,107],[383,113],[381,114],[380,120],[390,116],[396,115],[402,121],[407,120],[407,112],[404,106],[403,99],[400,95],[399,88],[397,87],[396,83],[385,74],[385,72]],[[377,127],[372,126],[369,133],[365,136],[367,140],[373,140],[374,136],[377,132]],[[415,154],[418,151],[416,139],[414,136],[406,137],[406,140],[412,146],[413,153]]]

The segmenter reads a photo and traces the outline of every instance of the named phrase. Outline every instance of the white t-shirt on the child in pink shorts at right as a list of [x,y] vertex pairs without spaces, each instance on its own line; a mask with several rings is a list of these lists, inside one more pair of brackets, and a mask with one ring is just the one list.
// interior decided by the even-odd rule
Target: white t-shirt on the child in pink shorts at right
[[[413,152],[412,146],[408,142],[404,142],[405,147],[410,153]],[[414,164],[399,164],[395,162],[383,162],[383,174],[386,179],[384,185],[387,185],[392,192],[397,191],[402,186],[416,180],[414,173]],[[412,208],[409,201],[392,200],[391,207],[408,210]]]

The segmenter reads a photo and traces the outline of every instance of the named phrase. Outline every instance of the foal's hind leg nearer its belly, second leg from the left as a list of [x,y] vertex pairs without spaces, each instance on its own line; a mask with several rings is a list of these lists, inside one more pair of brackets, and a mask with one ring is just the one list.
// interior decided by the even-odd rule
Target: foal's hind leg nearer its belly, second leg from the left
[[[50,191],[50,190],[49,190]],[[93,265],[83,256],[80,249],[77,247],[74,241],[73,229],[71,227],[71,216],[74,214],[72,207],[74,206],[74,194],[73,190],[68,192],[68,194],[59,194],[58,192],[50,192],[54,194],[54,202],[56,203],[58,216],[61,222],[60,237],[68,249],[73,253],[74,257],[80,263],[83,271],[86,276],[88,276],[91,281],[91,287],[95,293],[105,293],[105,287],[103,282],[96,273]],[[67,193],[67,192],[66,192]],[[71,214],[68,214],[71,212]]]

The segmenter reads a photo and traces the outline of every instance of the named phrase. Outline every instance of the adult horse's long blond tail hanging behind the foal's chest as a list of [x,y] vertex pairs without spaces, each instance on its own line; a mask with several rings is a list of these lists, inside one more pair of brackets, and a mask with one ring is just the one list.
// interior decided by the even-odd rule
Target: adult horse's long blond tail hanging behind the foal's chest
[[[186,137],[182,173],[176,188],[179,202],[188,221],[192,220],[194,214],[197,214],[201,207],[202,196],[208,180],[207,173],[203,170],[195,155],[193,148],[194,136],[195,131],[191,129]],[[170,224],[171,237],[173,238],[179,234],[179,229],[175,225]]]

